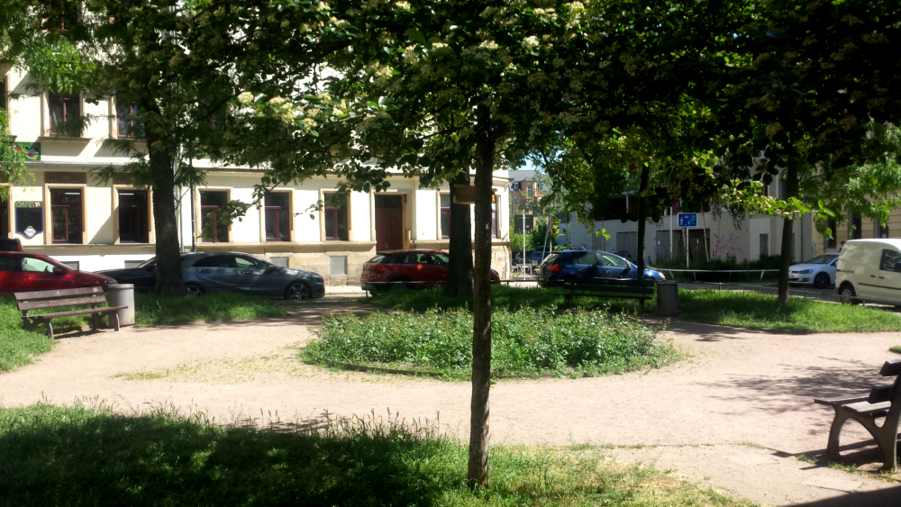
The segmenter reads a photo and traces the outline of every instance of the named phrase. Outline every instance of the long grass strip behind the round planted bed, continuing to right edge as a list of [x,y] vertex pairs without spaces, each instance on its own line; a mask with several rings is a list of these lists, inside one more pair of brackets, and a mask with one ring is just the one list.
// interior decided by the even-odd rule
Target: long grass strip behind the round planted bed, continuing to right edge
[[[561,298],[553,288],[517,288],[495,285],[491,294],[495,308],[535,308],[551,310]],[[678,318],[683,321],[705,322],[765,330],[780,333],[807,332],[876,332],[901,330],[901,313],[882,308],[836,304],[789,298],[782,309],[775,295],[738,291],[686,290],[678,291]],[[386,308],[423,312],[431,308],[441,310],[471,308],[472,299],[445,297],[440,290],[397,291],[378,294],[369,302]],[[627,299],[576,298],[581,308],[602,308],[607,312],[633,313],[638,303]],[[657,300],[645,303],[653,315]]]

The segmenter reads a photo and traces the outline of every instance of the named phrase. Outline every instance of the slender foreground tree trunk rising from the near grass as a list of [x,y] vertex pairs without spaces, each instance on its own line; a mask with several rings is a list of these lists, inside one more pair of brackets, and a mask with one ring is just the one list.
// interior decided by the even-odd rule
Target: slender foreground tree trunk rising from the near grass
[[491,112],[478,106],[476,124],[476,274],[472,325],[472,401],[469,414],[469,486],[488,484],[488,391],[491,385],[491,177],[495,140]]

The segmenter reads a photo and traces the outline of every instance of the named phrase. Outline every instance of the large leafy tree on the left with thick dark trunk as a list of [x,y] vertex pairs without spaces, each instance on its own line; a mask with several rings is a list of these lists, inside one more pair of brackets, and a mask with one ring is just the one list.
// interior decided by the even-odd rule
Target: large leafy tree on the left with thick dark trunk
[[[6,27],[0,32],[0,59],[28,71],[33,86],[84,92],[88,101],[116,96],[132,104],[139,127],[130,133],[136,139],[104,142],[132,156],[131,162],[98,177],[124,173],[153,188],[159,294],[184,292],[175,191],[202,182],[191,160],[227,160],[239,150],[249,152],[241,146],[270,144],[234,121],[238,95],[276,97],[281,90],[274,84],[288,80],[314,86],[315,64],[346,48],[350,39],[346,22],[322,2],[3,0],[0,13]],[[269,117],[269,125],[274,116],[312,130],[290,107],[270,105],[278,114]],[[78,135],[98,120],[103,118],[84,116],[65,129]],[[275,163],[273,153],[266,162]],[[230,211],[246,207],[232,203]]]

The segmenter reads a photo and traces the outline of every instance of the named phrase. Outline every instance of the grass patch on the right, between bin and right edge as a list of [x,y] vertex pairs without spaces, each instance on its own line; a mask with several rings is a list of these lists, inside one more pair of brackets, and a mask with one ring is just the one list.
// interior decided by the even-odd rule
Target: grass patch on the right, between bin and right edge
[[878,308],[799,297],[780,308],[775,295],[680,290],[679,318],[770,332],[875,332],[901,330],[901,314]]

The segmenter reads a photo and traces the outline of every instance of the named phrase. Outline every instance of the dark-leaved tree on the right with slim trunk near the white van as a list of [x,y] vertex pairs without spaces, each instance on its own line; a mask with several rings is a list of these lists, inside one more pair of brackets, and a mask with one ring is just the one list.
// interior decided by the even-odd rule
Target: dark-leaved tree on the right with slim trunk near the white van
[[[724,179],[785,182],[777,199],[736,193],[749,211],[784,217],[779,302],[787,304],[792,226],[808,179],[849,181],[849,167],[878,158],[869,132],[901,120],[898,5],[866,0],[754,5],[752,20],[734,38],[735,63],[722,74],[714,113]],[[758,184],[759,186],[759,184]],[[733,186],[737,189],[737,186]],[[727,193],[729,191],[726,191]],[[830,214],[817,202],[825,214]]]

